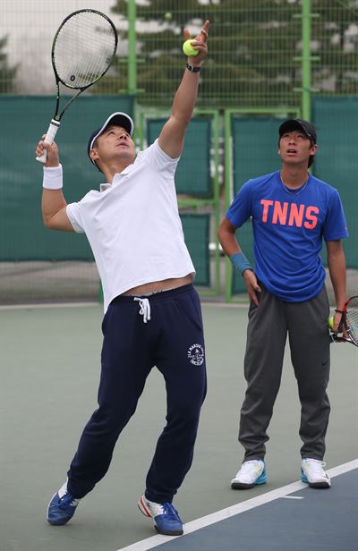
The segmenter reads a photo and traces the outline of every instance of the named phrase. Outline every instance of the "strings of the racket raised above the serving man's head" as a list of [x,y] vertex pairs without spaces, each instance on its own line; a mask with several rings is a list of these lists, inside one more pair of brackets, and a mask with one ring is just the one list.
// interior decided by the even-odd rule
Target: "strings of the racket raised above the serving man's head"
[[81,12],[64,22],[55,39],[55,70],[66,86],[93,84],[107,71],[116,48],[115,30],[98,13]]

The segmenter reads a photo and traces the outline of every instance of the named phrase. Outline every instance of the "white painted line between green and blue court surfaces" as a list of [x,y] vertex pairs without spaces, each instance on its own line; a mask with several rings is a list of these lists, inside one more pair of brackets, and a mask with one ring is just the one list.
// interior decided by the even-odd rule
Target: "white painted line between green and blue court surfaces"
[[[338,465],[337,467],[334,467],[327,472],[331,478],[334,478],[340,474],[354,469],[358,469],[358,459],[355,459],[351,462],[343,463],[342,465]],[[190,534],[191,532],[194,532],[196,530],[200,530],[201,528],[205,528],[206,526],[214,524],[215,522],[224,521],[225,519],[228,519],[236,514],[243,513],[244,511],[249,511],[254,507],[259,507],[260,505],[267,504],[270,501],[274,501],[278,497],[286,497],[288,494],[293,494],[294,492],[302,490],[306,487],[307,484],[304,484],[301,481],[293,482],[292,484],[278,487],[276,490],[272,490],[271,492],[267,492],[266,494],[262,494],[261,496],[248,499],[247,501],[244,501],[240,504],[226,507],[226,509],[217,511],[217,513],[208,514],[207,516],[201,517],[196,521],[187,522],[185,524],[184,535]],[[151,538],[142,539],[141,541],[133,543],[130,546],[121,547],[121,549],[117,549],[117,551],[146,551],[147,549],[152,549],[153,547],[160,546],[161,544],[166,543],[166,541],[170,541],[171,539],[176,538],[183,538],[183,536],[163,536],[161,534],[158,534],[158,536],[152,536]]]

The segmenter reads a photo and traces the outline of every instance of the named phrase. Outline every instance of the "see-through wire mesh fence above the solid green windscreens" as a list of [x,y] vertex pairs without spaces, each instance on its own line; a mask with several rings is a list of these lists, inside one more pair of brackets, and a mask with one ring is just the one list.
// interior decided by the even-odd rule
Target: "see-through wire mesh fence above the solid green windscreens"
[[[41,17],[34,21],[33,4],[2,3],[2,93],[39,94],[45,87],[49,91],[55,30],[65,15],[83,6],[81,0],[42,2]],[[300,106],[307,64],[311,64],[311,88],[320,95],[357,93],[356,0],[113,0],[109,4],[98,0],[97,4],[114,17],[120,47],[95,93],[138,91],[142,106],[170,106],[186,61],[182,30],[187,27],[194,37],[206,18],[211,26],[209,56],[200,74],[201,106]],[[311,32],[303,33],[303,23]],[[308,43],[311,60],[307,50],[303,52]]]

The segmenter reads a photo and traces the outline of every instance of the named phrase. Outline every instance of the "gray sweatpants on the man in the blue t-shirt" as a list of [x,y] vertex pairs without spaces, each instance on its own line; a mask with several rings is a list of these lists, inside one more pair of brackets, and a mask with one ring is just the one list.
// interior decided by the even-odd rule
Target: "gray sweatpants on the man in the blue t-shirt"
[[281,382],[288,334],[302,406],[302,457],[323,459],[329,402],[329,305],[326,288],[311,301],[280,301],[262,288],[260,304],[251,303],[244,375],[247,390],[241,410],[239,442],[244,461],[263,459],[267,428]]

